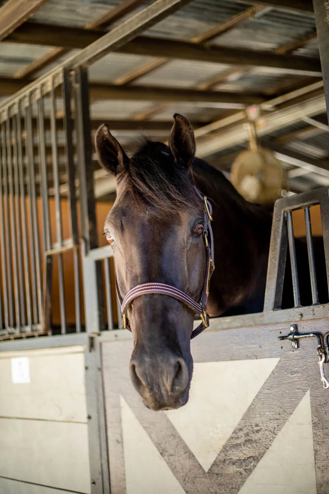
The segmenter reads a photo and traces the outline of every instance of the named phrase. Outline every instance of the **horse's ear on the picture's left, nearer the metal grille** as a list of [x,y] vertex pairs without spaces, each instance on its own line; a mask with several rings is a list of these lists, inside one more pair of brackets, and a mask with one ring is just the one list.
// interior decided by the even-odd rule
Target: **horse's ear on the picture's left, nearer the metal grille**
[[129,161],[107,124],[102,124],[96,132],[95,149],[99,164],[114,175],[120,173]]

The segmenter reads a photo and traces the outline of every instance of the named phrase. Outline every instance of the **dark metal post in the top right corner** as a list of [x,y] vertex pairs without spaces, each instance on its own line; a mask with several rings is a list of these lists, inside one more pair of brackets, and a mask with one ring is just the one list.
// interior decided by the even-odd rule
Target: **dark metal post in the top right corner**
[[328,2],[313,0],[315,24],[318,33],[322,77],[329,119],[329,11]]

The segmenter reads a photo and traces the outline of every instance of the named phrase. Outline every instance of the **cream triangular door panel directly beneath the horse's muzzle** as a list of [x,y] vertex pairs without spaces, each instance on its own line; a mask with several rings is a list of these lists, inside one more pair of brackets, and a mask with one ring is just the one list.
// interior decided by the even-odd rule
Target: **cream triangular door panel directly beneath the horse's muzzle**
[[206,472],[279,360],[194,364],[189,401],[165,413]]

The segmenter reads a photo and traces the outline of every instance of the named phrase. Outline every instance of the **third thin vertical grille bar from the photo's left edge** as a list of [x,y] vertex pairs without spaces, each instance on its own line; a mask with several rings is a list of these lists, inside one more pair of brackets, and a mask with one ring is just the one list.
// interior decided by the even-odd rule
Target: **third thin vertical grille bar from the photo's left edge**
[[19,181],[18,181],[18,149],[17,149],[17,117],[12,119],[12,129],[14,135],[14,185],[15,185],[15,217],[16,217],[16,242],[17,239],[17,263],[18,263],[18,284],[19,284],[19,299],[20,299],[20,311],[21,311],[21,324],[26,325],[25,318],[25,293],[24,293],[24,279],[23,279],[23,242],[21,241],[21,210],[19,203]]

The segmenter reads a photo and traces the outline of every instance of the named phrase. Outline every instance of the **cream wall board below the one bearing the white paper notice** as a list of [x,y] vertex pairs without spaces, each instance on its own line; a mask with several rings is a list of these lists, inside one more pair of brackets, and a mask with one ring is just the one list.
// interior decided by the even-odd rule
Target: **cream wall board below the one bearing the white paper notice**
[[89,494],[87,424],[0,418],[0,476]]

